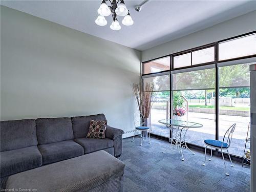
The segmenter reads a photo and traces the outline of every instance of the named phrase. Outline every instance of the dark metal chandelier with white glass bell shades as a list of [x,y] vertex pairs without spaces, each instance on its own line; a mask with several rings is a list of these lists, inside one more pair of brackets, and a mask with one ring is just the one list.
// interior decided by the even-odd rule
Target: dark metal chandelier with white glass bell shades
[[[111,6],[106,5],[106,2],[110,2]],[[118,4],[119,3],[119,4]],[[99,9],[98,9],[99,16],[95,20],[95,23],[99,26],[105,26],[108,22],[105,19],[105,16],[109,16],[112,14],[113,22],[110,26],[112,30],[120,30],[121,26],[117,20],[118,16],[124,16],[122,20],[122,24],[125,26],[133,25],[133,19],[129,13],[129,10],[126,8],[123,0],[103,0]]]

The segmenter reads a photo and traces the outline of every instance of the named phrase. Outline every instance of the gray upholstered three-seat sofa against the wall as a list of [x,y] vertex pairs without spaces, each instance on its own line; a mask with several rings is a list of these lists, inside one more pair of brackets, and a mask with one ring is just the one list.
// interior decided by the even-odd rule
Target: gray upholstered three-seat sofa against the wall
[[1,121],[1,188],[10,175],[104,150],[122,154],[123,131],[106,126],[105,139],[86,138],[91,120],[104,114]]

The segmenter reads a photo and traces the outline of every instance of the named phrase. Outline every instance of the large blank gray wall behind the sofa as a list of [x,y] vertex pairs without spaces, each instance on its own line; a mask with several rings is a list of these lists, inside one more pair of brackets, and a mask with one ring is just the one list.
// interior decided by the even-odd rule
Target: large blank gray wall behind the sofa
[[1,120],[104,113],[134,129],[139,51],[1,6],[1,56]]

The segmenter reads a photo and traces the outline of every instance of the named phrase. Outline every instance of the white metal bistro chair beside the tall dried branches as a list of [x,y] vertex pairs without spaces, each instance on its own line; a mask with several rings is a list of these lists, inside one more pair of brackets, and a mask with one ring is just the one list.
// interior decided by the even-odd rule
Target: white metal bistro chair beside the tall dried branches
[[[144,126],[145,118],[141,113],[134,113],[133,122],[134,122],[134,126],[135,126],[134,136],[135,136],[136,130],[140,131],[140,146],[142,146],[142,132],[148,131],[149,133],[151,133],[151,127]],[[143,140],[144,140],[144,134],[143,134]],[[134,142],[134,136],[133,136],[132,142]],[[148,138],[150,140],[150,136]],[[151,144],[151,142],[149,142],[149,143]]]

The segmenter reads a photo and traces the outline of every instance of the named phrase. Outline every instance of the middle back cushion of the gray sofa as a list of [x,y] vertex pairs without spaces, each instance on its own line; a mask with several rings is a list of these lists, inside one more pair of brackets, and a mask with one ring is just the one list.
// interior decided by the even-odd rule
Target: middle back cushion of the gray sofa
[[38,144],[73,140],[70,118],[39,118],[35,121]]

